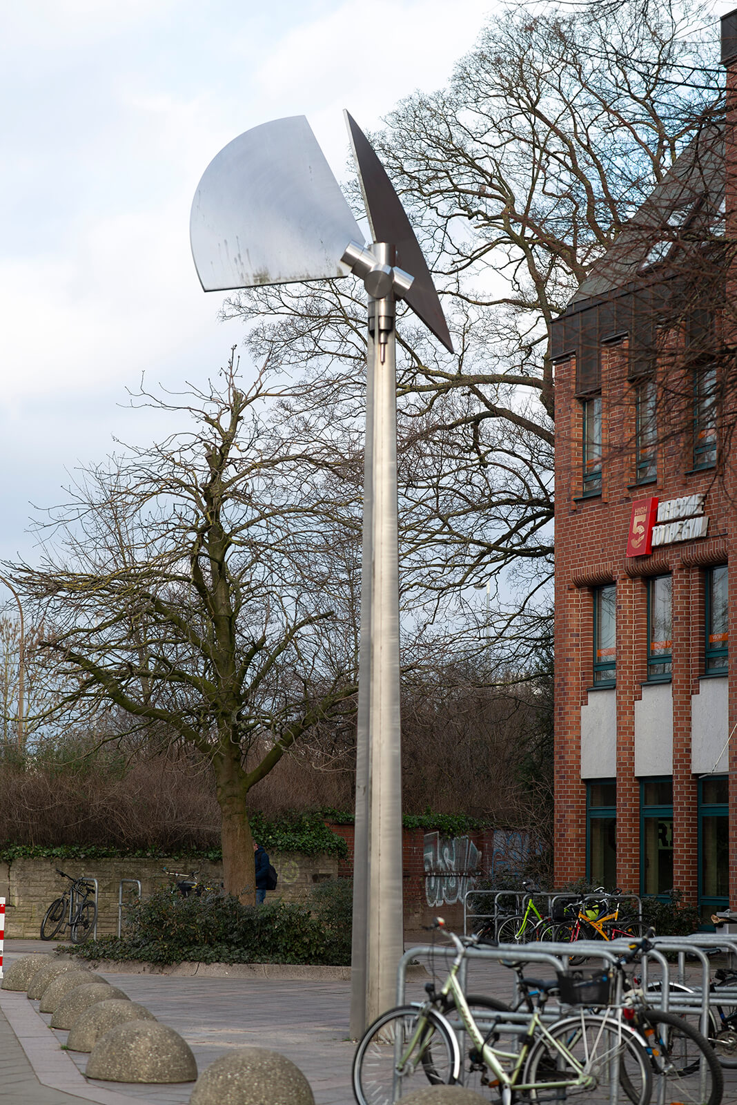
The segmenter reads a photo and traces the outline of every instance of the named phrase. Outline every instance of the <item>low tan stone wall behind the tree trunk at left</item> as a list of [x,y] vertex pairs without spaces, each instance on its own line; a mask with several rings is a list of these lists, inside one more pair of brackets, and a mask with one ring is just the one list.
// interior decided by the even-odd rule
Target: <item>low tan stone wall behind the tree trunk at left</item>
[[[316,883],[338,875],[340,860],[335,855],[302,855],[299,852],[271,852],[271,863],[279,874],[278,890],[269,897],[280,897],[287,902],[298,902],[307,897]],[[167,885],[171,880],[163,867],[170,871],[199,871],[204,880],[220,884],[223,878],[222,863],[205,860],[14,860],[0,863],[0,897],[6,898],[6,937],[36,938],[41,922],[51,904],[68,885],[56,874],[56,869],[77,877],[86,875],[98,883],[98,936],[115,935],[118,930],[118,890],[121,878],[139,878],[143,897],[148,897],[157,886]],[[130,901],[135,887],[124,886],[124,901]],[[68,939],[68,929],[60,938]]]

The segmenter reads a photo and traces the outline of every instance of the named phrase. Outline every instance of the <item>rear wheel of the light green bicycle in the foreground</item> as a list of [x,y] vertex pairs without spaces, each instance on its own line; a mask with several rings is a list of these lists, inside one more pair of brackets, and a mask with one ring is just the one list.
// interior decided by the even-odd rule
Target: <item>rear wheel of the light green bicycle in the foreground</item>
[[532,1087],[530,1101],[609,1105],[623,1099],[615,1094],[612,1080],[617,1078],[632,1105],[648,1105],[652,1071],[640,1039],[630,1029],[580,1013],[558,1021],[549,1033],[554,1042],[542,1036],[525,1063],[522,1081]]

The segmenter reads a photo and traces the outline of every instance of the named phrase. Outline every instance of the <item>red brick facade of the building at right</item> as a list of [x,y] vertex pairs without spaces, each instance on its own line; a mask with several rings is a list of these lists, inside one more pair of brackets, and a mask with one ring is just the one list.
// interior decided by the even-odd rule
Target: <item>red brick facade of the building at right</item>
[[[737,13],[725,19],[734,20]],[[723,21],[724,27],[724,21]],[[737,57],[734,59],[737,61]],[[737,67],[737,66],[735,66]],[[737,143],[730,116],[737,112],[737,74],[728,67],[728,125],[726,126],[723,186],[726,180],[727,238],[737,234]],[[632,272],[630,267],[630,272]],[[599,270],[599,276],[605,272]],[[596,275],[596,266],[595,266]],[[727,302],[737,288],[734,273],[727,274]],[[569,325],[583,319],[609,297],[613,303],[626,290],[599,288],[587,299],[579,290],[577,299],[565,316],[554,324]],[[586,282],[583,287],[586,286]],[[631,285],[629,285],[631,288]],[[709,306],[714,306],[709,304]],[[612,307],[612,311],[615,308]],[[619,308],[617,308],[619,309]],[[622,312],[623,314],[623,312]],[[591,334],[589,325],[578,322],[578,333]],[[725,330],[734,325],[716,313],[717,336],[724,343],[735,335]],[[615,583],[617,617],[616,666],[616,864],[617,883],[622,890],[638,892],[641,885],[640,783],[635,775],[635,715],[644,716],[643,684],[648,680],[647,580],[652,576],[672,577],[672,772],[665,765],[663,776],[673,780],[673,885],[688,902],[698,899],[698,774],[692,767],[694,699],[705,684],[705,577],[718,565],[729,566],[729,638],[737,641],[733,624],[737,618],[737,540],[736,464],[730,455],[724,427],[715,467],[694,471],[693,430],[690,402],[690,375],[683,367],[684,329],[671,330],[665,361],[655,368],[659,444],[656,481],[637,485],[635,471],[635,388],[631,369],[631,334],[599,335],[600,394],[602,401],[602,481],[600,495],[584,495],[583,404],[597,388],[581,389],[577,381],[577,358],[583,338],[575,347],[569,337],[558,341],[555,364],[556,410],[556,570],[555,570],[555,883],[562,885],[586,873],[586,782],[581,775],[583,707],[590,705],[601,691],[594,688],[594,589]],[[563,334],[563,329],[557,330]],[[566,335],[574,330],[565,332]],[[568,345],[570,348],[560,348]],[[590,351],[590,350],[589,350]],[[718,423],[717,423],[718,425]],[[677,541],[653,549],[652,555],[627,557],[627,539],[632,503],[650,496],[660,503],[701,493],[708,516],[706,537]],[[735,648],[733,644],[730,648]],[[737,681],[728,682],[728,711],[719,746],[737,724]],[[585,730],[586,733],[588,730]],[[596,737],[594,737],[596,738]],[[640,741],[647,739],[642,733]],[[715,757],[716,759],[716,757]],[[587,761],[588,762],[588,761]],[[665,761],[664,761],[665,764]],[[718,774],[718,772],[717,772]],[[724,772],[723,772],[724,775]],[[653,777],[654,772],[653,772]],[[589,774],[589,782],[596,775]],[[729,743],[729,811],[737,808],[737,739]],[[737,905],[737,819],[729,818],[730,903]]]

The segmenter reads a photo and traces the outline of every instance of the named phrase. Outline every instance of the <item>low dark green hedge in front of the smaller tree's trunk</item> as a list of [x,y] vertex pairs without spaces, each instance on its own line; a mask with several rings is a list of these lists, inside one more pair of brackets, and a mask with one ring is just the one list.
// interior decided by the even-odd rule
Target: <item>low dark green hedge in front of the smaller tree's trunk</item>
[[65,954],[83,959],[131,959],[156,964],[197,962],[340,964],[335,933],[307,905],[266,902],[242,905],[236,897],[180,897],[163,887],[128,909],[125,937],[103,937]]

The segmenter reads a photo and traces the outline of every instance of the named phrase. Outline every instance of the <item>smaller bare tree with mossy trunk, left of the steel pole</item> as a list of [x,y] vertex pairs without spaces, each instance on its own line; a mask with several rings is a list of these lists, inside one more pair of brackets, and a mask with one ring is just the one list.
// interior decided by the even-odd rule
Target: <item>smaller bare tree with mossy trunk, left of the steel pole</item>
[[53,625],[40,644],[71,685],[57,714],[103,740],[140,734],[210,761],[225,887],[243,901],[255,893],[248,792],[355,692],[355,641],[341,648],[328,629],[334,503],[314,457],[267,424],[268,398],[259,382],[241,389],[233,361],[207,392],[143,394],[191,430],[84,472],[49,522],[58,551],[11,566]]

